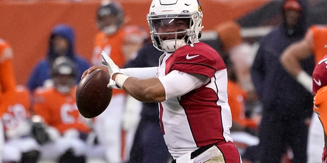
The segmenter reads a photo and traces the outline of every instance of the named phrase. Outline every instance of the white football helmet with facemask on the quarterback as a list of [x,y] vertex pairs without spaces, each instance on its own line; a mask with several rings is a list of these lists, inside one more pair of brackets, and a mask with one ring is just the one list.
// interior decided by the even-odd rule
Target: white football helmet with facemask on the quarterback
[[[197,42],[201,37],[202,10],[198,0],[153,0],[147,20],[153,46],[160,51],[174,52],[186,44]],[[170,23],[174,19],[183,19],[190,26],[185,31],[159,33],[158,23]],[[161,35],[174,34],[175,39],[162,40]],[[179,38],[177,35],[182,34]]]

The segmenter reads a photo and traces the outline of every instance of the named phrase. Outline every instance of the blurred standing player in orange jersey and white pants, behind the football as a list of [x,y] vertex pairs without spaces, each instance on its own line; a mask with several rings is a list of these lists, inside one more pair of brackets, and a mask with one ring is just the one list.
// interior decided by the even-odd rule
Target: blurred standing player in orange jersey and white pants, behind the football
[[[115,1],[103,2],[97,11],[100,32],[95,39],[91,62],[101,65],[101,51],[105,51],[119,66],[135,58],[147,34],[138,26],[124,25],[124,11]],[[140,119],[141,102],[128,96],[124,90],[113,90],[108,109],[95,119],[94,129],[100,144],[106,149],[110,163],[128,160],[137,123]]]

